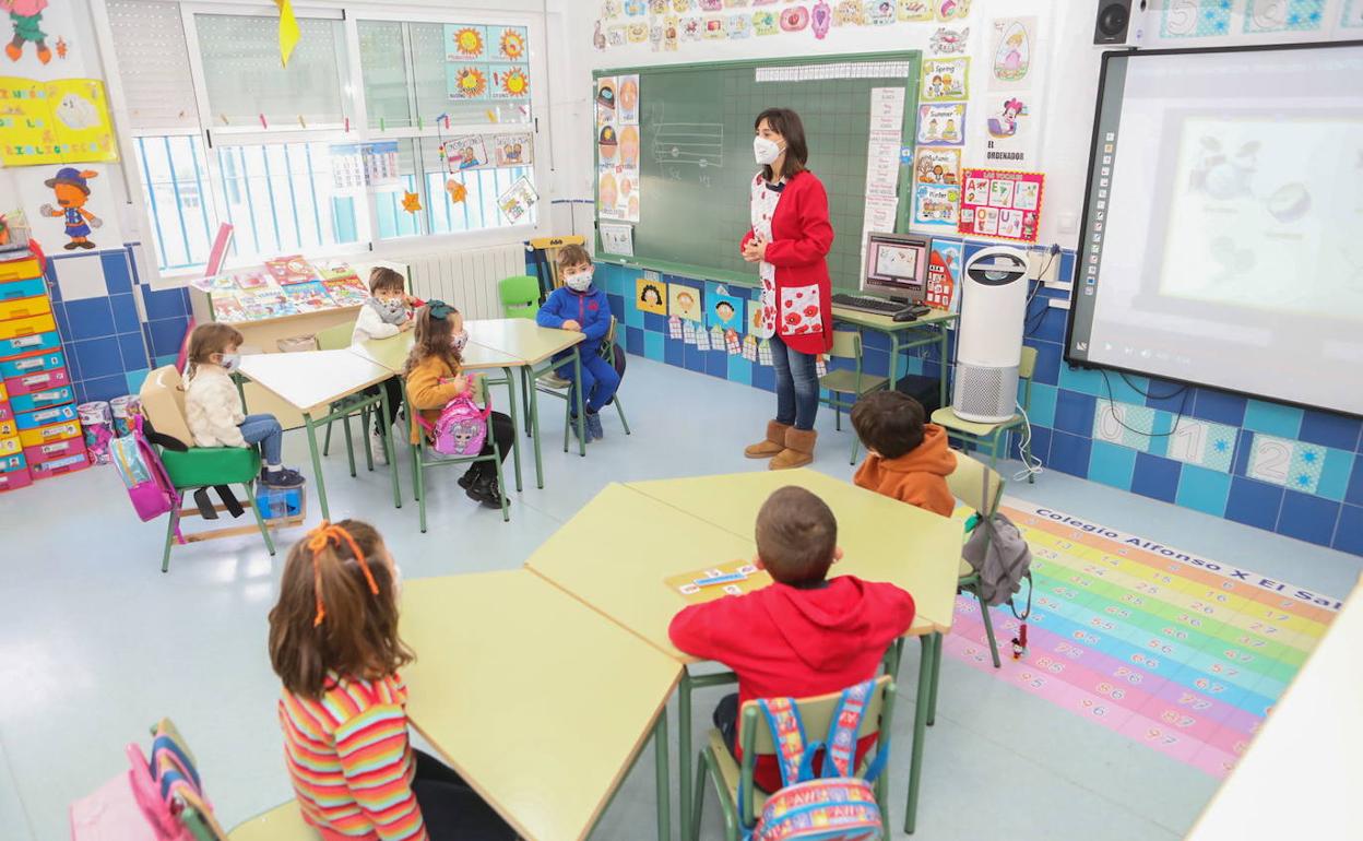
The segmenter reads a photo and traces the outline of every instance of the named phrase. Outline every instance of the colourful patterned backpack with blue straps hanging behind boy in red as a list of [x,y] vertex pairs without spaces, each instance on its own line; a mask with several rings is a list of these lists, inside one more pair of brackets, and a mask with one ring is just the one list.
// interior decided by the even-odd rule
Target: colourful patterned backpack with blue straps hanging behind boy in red
[[[804,724],[793,698],[756,703],[771,728],[781,766],[781,789],[773,793],[748,841],[879,841],[885,826],[872,782],[890,755],[889,733],[880,733],[875,759],[856,776],[857,733],[875,679],[842,691],[826,743],[806,743]],[[814,756],[825,748],[823,773],[814,776]],[[741,792],[740,792],[741,796]],[[743,814],[743,810],[739,810]]]

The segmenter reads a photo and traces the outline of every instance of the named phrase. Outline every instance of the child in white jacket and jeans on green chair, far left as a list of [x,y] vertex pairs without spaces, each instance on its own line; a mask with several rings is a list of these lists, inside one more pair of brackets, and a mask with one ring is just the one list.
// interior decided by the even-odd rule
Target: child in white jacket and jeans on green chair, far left
[[281,463],[284,429],[273,414],[245,414],[232,372],[241,361],[241,334],[230,324],[199,324],[189,337],[189,387],[184,409],[198,447],[260,444],[267,485],[296,488],[303,476]]

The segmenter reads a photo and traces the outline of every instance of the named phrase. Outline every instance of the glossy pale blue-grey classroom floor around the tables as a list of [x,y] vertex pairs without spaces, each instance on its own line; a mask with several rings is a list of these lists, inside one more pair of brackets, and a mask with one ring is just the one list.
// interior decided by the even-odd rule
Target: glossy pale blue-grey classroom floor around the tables
[[[350,480],[335,450],[327,462],[333,517],[378,525],[409,579],[514,568],[609,481],[754,469],[741,447],[761,433],[774,401],[638,357],[630,358],[623,395],[634,435],[624,438],[607,410],[607,439],[592,444],[586,459],[560,453],[562,408],[544,402],[547,487],[534,489],[527,458],[526,491],[512,495],[510,525],[468,502],[454,484],[457,472],[444,470],[431,483],[431,530],[421,534],[409,472],[402,476],[409,502],[395,511],[387,474],[364,473],[361,461],[360,477]],[[815,466],[849,478],[851,432],[833,431],[831,412],[821,413],[819,429]],[[286,455],[305,461],[301,433],[286,436]],[[401,455],[406,468],[405,447]],[[1334,597],[1348,593],[1363,567],[1356,556],[1058,473],[1030,487],[1010,484],[1009,493]],[[278,683],[266,656],[266,613],[282,551],[270,559],[258,537],[194,544],[177,548],[170,574],[162,575],[165,523],[138,522],[108,468],[0,496],[0,522],[10,549],[0,589],[0,684],[7,687],[0,695],[0,838],[68,837],[68,803],[121,773],[123,747],[146,743],[147,725],[162,716],[176,721],[198,755],[224,825],[290,796],[275,721]],[[300,534],[286,532],[279,542],[288,547]],[[905,654],[910,680],[916,652],[909,646]],[[552,695],[552,687],[547,691]],[[698,732],[718,695],[696,698]],[[895,827],[904,818],[913,694],[901,692],[900,703]],[[932,841],[1005,833],[1179,838],[1216,788],[1194,767],[950,657],[924,769],[916,837]],[[592,837],[653,837],[653,791],[645,755]],[[721,837],[720,827],[711,796],[703,837]]]

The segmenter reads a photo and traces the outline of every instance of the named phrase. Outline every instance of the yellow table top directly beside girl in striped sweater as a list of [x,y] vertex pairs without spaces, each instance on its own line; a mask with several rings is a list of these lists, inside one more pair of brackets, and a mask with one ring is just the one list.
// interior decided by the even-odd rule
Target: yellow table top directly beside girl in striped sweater
[[680,679],[525,570],[408,582],[399,630],[413,725],[537,841],[587,836]]

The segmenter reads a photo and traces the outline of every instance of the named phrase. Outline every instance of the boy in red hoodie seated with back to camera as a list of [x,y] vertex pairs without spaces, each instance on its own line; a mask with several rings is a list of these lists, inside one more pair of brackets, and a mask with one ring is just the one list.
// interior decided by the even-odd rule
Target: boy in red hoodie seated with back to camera
[[[900,587],[855,575],[827,578],[842,557],[837,537],[837,519],[822,499],[781,488],[758,513],[754,559],[774,583],[691,605],[672,619],[675,646],[717,660],[739,677],[739,692],[714,710],[714,725],[739,759],[743,703],[825,695],[860,683],[913,622],[913,597]],[[857,762],[874,744],[875,736],[857,743]],[[755,780],[767,792],[781,788],[776,756],[758,761]]]

